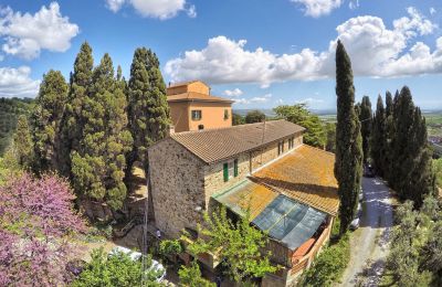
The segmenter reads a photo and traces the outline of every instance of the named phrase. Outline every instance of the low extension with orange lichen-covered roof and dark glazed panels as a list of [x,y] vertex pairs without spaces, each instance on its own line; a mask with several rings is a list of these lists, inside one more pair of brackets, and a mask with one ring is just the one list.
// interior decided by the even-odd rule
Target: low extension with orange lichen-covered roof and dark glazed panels
[[339,206],[334,160],[303,145],[213,196],[234,214],[249,212],[251,223],[269,234],[271,261],[284,266],[277,277],[301,274],[329,237]]

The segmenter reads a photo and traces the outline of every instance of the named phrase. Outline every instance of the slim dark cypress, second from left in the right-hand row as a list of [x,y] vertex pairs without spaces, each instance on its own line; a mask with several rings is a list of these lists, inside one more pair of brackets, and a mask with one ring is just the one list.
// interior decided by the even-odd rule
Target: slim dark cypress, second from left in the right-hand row
[[371,127],[370,155],[376,171],[380,177],[385,174],[385,158],[387,157],[386,137],[386,110],[383,108],[382,97],[379,95]]

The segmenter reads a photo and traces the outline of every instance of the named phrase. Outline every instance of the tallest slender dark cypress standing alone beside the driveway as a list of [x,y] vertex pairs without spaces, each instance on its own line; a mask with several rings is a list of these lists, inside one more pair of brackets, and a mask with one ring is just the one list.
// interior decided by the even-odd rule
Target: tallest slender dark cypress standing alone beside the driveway
[[350,59],[340,41],[336,49],[336,161],[335,177],[340,199],[340,234],[355,215],[362,171],[360,123],[355,111],[355,86]]

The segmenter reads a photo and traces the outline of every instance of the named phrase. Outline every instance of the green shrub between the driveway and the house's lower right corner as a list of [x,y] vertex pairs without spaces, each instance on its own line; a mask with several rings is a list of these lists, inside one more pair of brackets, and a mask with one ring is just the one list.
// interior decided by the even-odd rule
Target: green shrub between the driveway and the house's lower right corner
[[349,236],[325,248],[303,275],[301,286],[324,287],[338,281],[350,258]]

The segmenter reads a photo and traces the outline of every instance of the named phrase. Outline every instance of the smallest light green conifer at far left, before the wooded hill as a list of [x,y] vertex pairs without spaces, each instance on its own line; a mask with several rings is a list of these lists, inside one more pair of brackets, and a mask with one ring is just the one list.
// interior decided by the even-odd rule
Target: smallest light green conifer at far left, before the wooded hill
[[24,115],[20,115],[17,121],[17,130],[13,137],[13,151],[17,161],[23,169],[32,168],[32,162],[34,161],[33,145],[28,118]]

